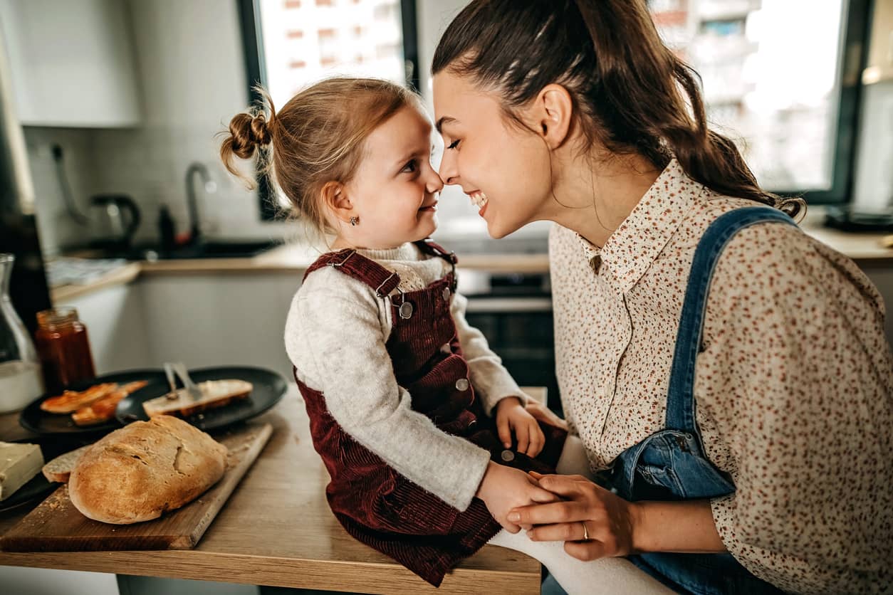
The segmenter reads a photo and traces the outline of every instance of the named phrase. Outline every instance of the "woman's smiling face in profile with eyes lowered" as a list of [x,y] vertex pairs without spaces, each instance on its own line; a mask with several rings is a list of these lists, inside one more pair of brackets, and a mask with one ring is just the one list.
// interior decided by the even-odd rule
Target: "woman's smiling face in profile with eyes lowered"
[[[434,114],[444,139],[440,178],[462,186],[480,211],[492,237],[503,237],[541,214],[550,196],[549,154],[543,139],[506,119],[495,93],[448,70],[433,81]],[[472,201],[473,202],[473,201]]]

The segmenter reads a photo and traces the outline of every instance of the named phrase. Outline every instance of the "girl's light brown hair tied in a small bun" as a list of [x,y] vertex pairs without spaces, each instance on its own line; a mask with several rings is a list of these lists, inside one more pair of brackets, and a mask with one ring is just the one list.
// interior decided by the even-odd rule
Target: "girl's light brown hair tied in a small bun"
[[292,97],[279,112],[270,95],[257,90],[263,103],[230,120],[221,145],[223,165],[254,187],[233,157],[256,155],[258,169],[271,176],[293,211],[323,234],[334,230],[322,208],[322,186],[354,177],[364,141],[385,120],[405,107],[423,112],[418,95],[380,79],[325,79]]

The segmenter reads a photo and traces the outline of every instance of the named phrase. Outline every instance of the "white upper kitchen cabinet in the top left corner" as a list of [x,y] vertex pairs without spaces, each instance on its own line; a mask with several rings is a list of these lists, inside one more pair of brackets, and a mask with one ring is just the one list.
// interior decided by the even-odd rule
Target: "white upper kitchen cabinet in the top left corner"
[[138,125],[128,6],[121,0],[0,0],[0,25],[23,125]]

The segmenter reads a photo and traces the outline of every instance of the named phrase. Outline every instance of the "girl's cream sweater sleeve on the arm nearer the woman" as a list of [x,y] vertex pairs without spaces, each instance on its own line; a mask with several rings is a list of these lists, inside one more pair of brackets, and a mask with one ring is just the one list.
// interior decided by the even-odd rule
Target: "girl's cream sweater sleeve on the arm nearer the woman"
[[526,404],[527,395],[502,365],[502,359],[490,349],[487,338],[478,328],[469,325],[465,320],[467,307],[468,299],[461,293],[455,293],[450,309],[456,334],[459,336],[459,343],[462,344],[465,360],[468,361],[472,386],[475,393],[480,396],[484,411],[487,415],[492,415],[493,408],[505,397],[518,397],[522,405]]

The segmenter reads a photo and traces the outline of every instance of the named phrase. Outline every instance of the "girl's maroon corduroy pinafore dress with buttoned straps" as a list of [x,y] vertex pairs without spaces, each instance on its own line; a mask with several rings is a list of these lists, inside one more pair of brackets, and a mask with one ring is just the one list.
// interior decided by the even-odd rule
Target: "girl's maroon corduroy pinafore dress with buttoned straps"
[[[409,391],[414,410],[430,417],[444,432],[489,450],[498,463],[553,473],[563,448],[563,430],[540,424],[546,447],[537,459],[504,449],[495,423],[484,415],[474,397],[468,364],[450,315],[455,255],[430,241],[416,245],[449,261],[453,270],[424,289],[400,293],[391,300],[394,326],[386,347],[397,384]],[[400,282],[395,273],[352,250],[322,255],[307,269],[305,278],[326,266],[369,285],[380,298]],[[326,497],[347,533],[438,586],[448,570],[499,531],[500,525],[482,500],[474,498],[471,506],[460,512],[399,475],[338,426],[323,393],[296,381],[310,417],[313,447],[331,477]],[[406,448],[413,445],[406,444]]]

